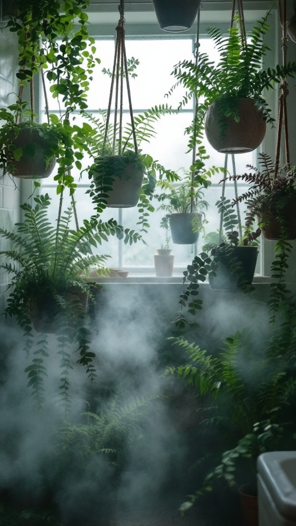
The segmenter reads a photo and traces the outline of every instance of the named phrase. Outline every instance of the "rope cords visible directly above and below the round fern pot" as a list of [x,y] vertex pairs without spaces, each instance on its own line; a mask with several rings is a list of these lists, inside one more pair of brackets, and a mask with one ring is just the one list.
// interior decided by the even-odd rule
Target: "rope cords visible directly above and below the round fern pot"
[[[233,0],[232,3],[232,13],[231,13],[231,25],[230,27],[233,27],[234,24],[234,16],[235,16],[235,7],[236,7],[236,1],[238,3],[238,15],[239,15],[239,21],[240,21],[240,32],[241,32],[241,39],[242,39],[242,46],[246,46],[246,32],[245,32],[245,24],[244,24],[244,14],[243,14],[243,3],[242,0]],[[236,181],[236,167],[235,167],[235,157],[234,154],[231,154],[231,160],[232,160],[232,172],[234,176],[233,180],[233,186],[234,186],[234,195],[235,195],[235,201],[236,201],[236,214],[238,216],[239,221],[239,238],[242,239],[242,224],[241,224],[241,213],[240,213],[240,207],[239,207],[239,201],[238,201],[238,183]],[[225,197],[225,184],[226,184],[226,175],[227,175],[227,166],[228,166],[228,154],[225,154],[224,159],[224,178],[223,178],[223,184],[222,184],[222,196]],[[223,241],[223,219],[224,219],[224,210],[223,207],[220,211],[220,228],[219,228],[219,243],[222,243]]]

